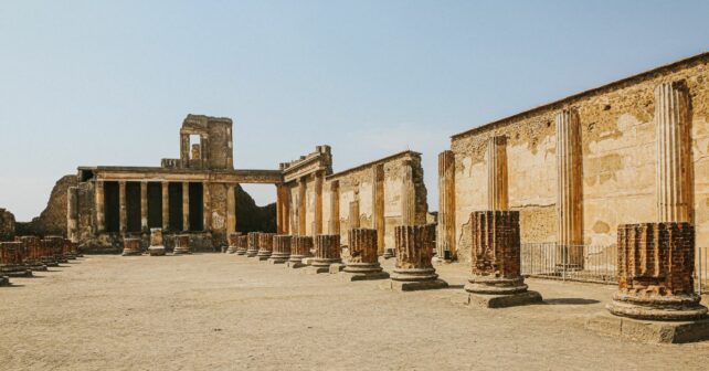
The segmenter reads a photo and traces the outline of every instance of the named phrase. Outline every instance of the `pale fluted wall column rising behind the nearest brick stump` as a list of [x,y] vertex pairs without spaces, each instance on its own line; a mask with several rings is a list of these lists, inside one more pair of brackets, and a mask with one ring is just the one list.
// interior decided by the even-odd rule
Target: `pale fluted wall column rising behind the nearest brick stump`
[[684,81],[655,87],[657,218],[691,222],[691,98]]

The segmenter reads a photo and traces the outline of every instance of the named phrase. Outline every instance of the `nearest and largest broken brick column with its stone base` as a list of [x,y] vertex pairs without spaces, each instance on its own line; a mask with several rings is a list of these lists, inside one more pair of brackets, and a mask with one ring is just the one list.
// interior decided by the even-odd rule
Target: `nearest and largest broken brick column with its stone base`
[[652,342],[709,339],[707,307],[695,293],[695,229],[690,223],[618,226],[618,290],[609,314],[586,327]]

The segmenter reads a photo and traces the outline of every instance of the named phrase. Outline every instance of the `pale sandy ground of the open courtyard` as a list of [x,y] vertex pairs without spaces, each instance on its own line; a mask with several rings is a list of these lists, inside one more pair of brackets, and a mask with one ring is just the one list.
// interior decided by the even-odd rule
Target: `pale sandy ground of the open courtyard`
[[[387,262],[391,264],[391,261]],[[708,370],[709,341],[586,331],[611,286],[529,279],[544,305],[484,310],[236,255],[88,256],[0,288],[1,370]]]

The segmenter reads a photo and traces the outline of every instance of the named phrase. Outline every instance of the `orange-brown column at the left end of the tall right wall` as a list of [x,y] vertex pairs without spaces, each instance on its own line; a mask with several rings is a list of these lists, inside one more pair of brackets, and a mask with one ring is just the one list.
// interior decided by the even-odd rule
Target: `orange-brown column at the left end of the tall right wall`
[[436,257],[456,257],[455,248],[455,156],[446,150],[438,153],[438,236]]

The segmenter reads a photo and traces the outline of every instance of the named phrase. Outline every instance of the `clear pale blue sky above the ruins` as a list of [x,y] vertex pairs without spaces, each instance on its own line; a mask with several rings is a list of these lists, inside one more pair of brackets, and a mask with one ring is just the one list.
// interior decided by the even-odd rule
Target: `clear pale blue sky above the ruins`
[[[237,168],[316,145],[335,170],[705,52],[709,1],[0,3],[0,206],[27,221],[80,165],[178,157],[188,113],[234,119]],[[261,204],[272,186],[247,188]]]

